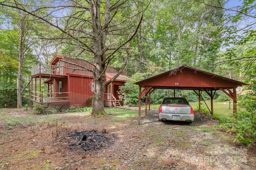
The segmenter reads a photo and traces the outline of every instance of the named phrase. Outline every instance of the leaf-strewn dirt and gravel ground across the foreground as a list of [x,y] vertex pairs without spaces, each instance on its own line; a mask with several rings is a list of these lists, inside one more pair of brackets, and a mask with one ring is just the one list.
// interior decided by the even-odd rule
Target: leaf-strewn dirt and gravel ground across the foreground
[[138,125],[138,117],[114,121],[113,114],[93,118],[1,109],[0,169],[256,169],[255,145],[233,143],[234,136],[212,127],[218,121],[195,116],[191,124],[160,122],[152,109]]

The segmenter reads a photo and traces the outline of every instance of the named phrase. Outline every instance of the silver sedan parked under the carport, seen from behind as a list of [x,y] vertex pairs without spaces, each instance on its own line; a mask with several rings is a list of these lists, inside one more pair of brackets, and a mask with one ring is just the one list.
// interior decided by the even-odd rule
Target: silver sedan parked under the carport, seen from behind
[[159,121],[194,121],[194,111],[185,98],[164,98],[159,108]]

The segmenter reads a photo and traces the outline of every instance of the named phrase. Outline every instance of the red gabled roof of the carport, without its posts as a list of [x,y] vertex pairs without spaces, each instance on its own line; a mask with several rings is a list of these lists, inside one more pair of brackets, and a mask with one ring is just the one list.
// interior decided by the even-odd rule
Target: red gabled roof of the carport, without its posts
[[[201,77],[201,79],[198,77]],[[220,88],[232,89],[238,86],[248,85],[244,82],[239,82],[186,65],[140,80],[135,82],[135,84],[143,88],[151,87],[153,89],[180,90],[220,90]]]

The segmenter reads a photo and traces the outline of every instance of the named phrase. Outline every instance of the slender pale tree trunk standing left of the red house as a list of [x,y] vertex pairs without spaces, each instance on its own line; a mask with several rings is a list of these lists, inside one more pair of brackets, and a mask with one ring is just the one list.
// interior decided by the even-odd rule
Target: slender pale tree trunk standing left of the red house
[[22,108],[21,80],[23,70],[23,41],[24,41],[24,21],[20,20],[20,39],[18,48],[18,76],[17,76],[17,108]]

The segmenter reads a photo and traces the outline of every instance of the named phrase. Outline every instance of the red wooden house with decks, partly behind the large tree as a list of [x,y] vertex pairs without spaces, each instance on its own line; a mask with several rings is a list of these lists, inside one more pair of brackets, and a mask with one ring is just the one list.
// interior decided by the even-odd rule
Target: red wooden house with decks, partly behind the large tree
[[[93,63],[56,56],[49,69],[41,64],[31,70],[30,106],[33,103],[47,104],[58,109],[90,106],[93,95]],[[82,67],[81,67],[82,66]],[[84,68],[88,69],[85,70]],[[119,68],[108,66],[106,80],[110,80]],[[108,107],[122,105],[118,97],[119,86],[128,79],[126,71],[122,72],[105,90],[104,105]]]

